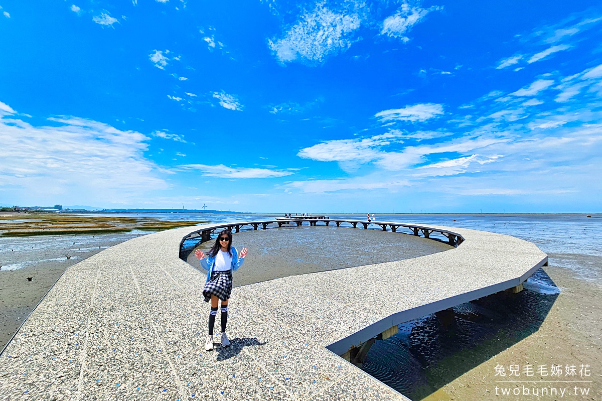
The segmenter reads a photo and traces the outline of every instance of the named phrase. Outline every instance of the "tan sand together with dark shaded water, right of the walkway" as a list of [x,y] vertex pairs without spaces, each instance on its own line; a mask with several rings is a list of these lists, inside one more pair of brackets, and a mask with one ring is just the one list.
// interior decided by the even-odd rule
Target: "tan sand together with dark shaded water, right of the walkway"
[[[602,286],[576,278],[564,267],[540,269],[518,294],[497,293],[453,308],[452,320],[434,315],[400,325],[399,334],[377,341],[364,370],[414,401],[486,399],[602,398]],[[447,325],[446,325],[447,323]],[[520,365],[520,380],[586,380],[591,383],[499,383],[495,367]],[[534,375],[523,373],[524,365]],[[560,378],[551,378],[551,365],[562,365]],[[538,375],[547,365],[548,376]],[[576,366],[567,376],[566,365]],[[580,376],[589,365],[590,376]],[[530,388],[565,388],[564,397],[523,394]],[[589,388],[588,396],[574,394]],[[496,388],[497,389],[497,395]],[[501,387],[518,396],[503,395]]]

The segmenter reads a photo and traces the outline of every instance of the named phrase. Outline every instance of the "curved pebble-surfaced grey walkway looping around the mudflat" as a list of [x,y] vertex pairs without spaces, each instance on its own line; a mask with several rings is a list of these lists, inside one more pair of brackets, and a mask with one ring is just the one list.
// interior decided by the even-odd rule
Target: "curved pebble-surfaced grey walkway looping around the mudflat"
[[547,262],[527,241],[453,228],[465,239],[456,249],[234,288],[232,344],[208,353],[205,274],[178,257],[198,229],[69,267],[0,355],[0,400],[406,399],[335,353],[514,287]]

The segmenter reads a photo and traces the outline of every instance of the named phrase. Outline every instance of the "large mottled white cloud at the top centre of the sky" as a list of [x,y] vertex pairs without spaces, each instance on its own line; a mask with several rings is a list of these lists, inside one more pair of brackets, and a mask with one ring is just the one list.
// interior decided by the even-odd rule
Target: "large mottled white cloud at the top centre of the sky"
[[[355,8],[358,7],[364,5],[356,5]],[[290,63],[297,58],[322,63],[356,42],[353,33],[359,29],[361,21],[358,12],[346,8],[330,10],[325,2],[320,2],[314,10],[305,10],[281,39],[268,40],[268,46],[281,63]]]

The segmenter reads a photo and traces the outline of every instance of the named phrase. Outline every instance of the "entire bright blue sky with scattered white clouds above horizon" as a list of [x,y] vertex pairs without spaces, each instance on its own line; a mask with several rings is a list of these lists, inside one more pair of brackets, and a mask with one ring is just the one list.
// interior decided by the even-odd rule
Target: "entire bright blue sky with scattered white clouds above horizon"
[[591,1],[0,7],[0,204],[602,211]]

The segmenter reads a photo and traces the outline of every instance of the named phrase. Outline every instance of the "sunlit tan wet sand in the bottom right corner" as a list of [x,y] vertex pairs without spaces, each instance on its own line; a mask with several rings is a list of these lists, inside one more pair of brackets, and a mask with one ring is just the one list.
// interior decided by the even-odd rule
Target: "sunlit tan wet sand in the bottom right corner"
[[[602,287],[594,282],[583,281],[574,277],[574,273],[562,267],[545,267],[545,272],[560,288],[550,311],[541,323],[539,329],[528,335],[521,341],[515,342],[512,335],[502,333],[497,337],[484,341],[480,346],[472,350],[464,350],[456,355],[443,359],[433,368],[427,370],[427,376],[432,378],[450,378],[454,372],[465,371],[464,374],[453,378],[453,380],[435,385],[427,385],[415,391],[414,400],[447,401],[447,400],[485,400],[485,399],[540,399],[556,400],[560,396],[524,395],[523,385],[526,387],[556,387],[567,388],[564,399],[600,400],[602,399]],[[517,316],[520,318],[520,316]],[[499,342],[506,342],[507,349],[498,351]],[[506,347],[504,347],[506,348]],[[489,358],[474,368],[474,361]],[[591,383],[520,383],[500,384],[500,376],[495,376],[495,366],[510,364],[523,366],[531,364],[537,369],[538,365],[546,364],[548,376],[542,377],[535,373],[531,378],[524,374],[523,380],[553,380],[549,376],[551,364],[561,364],[563,370],[566,365],[576,365],[576,376],[567,376],[565,371],[561,378],[556,380],[584,380]],[[591,376],[585,377],[579,374],[580,365],[590,365]],[[450,378],[451,379],[451,378]],[[505,378],[508,379],[508,378]],[[439,379],[440,382],[440,379]],[[503,396],[498,388],[496,396],[495,387],[520,388],[519,396]],[[587,396],[575,395],[574,386],[589,388]],[[581,390],[578,389],[580,392]]]

